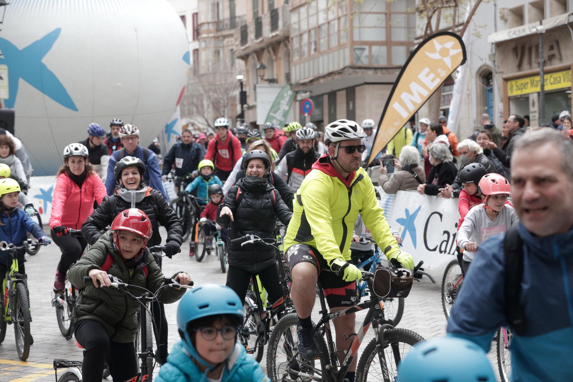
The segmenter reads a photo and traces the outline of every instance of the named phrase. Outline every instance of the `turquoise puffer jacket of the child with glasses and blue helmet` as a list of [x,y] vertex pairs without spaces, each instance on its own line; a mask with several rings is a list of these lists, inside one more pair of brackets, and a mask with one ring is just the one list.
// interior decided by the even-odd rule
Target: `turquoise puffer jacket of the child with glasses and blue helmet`
[[[159,369],[157,382],[205,382],[206,373],[199,370],[183,348],[182,340],[175,342],[167,363]],[[223,368],[221,382],[268,382],[253,356],[247,354],[241,344],[236,344],[233,353]]]

